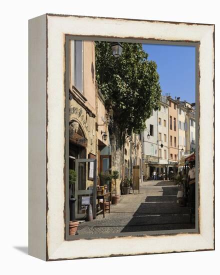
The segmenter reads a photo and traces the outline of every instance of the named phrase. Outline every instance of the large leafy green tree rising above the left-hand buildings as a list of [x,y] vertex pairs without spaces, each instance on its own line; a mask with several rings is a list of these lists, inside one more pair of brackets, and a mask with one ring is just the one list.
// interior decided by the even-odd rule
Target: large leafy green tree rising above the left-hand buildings
[[95,68],[98,89],[111,99],[114,132],[121,145],[132,132],[140,133],[151,111],[160,108],[161,89],[156,63],[147,60],[140,43],[122,43],[120,57],[112,55],[110,42],[95,42]]

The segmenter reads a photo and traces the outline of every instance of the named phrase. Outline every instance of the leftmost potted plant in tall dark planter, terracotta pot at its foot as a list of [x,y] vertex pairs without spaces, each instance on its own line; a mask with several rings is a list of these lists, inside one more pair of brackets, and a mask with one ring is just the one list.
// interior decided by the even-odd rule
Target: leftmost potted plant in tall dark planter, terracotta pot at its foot
[[74,187],[76,181],[75,170],[69,169],[69,235],[75,235],[79,222],[75,220]]

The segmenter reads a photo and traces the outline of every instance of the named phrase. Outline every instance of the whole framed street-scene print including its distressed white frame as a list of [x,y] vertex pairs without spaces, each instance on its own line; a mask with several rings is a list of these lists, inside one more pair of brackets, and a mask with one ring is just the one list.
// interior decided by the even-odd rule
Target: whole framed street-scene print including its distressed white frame
[[214,249],[214,25],[29,20],[29,254]]

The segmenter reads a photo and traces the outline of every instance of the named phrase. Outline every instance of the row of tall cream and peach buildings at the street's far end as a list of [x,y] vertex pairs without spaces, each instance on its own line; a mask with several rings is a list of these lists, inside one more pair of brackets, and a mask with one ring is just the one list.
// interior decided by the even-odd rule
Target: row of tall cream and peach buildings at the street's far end
[[[143,180],[177,171],[181,157],[195,150],[195,104],[161,96],[142,133]],[[162,147],[161,147],[162,144]]]

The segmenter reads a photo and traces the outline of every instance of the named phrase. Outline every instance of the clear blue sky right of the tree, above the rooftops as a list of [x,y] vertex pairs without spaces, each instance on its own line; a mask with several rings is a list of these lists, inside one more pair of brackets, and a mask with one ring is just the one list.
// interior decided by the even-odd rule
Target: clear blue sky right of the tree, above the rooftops
[[195,102],[195,47],[143,44],[143,50],[157,64],[162,94]]

